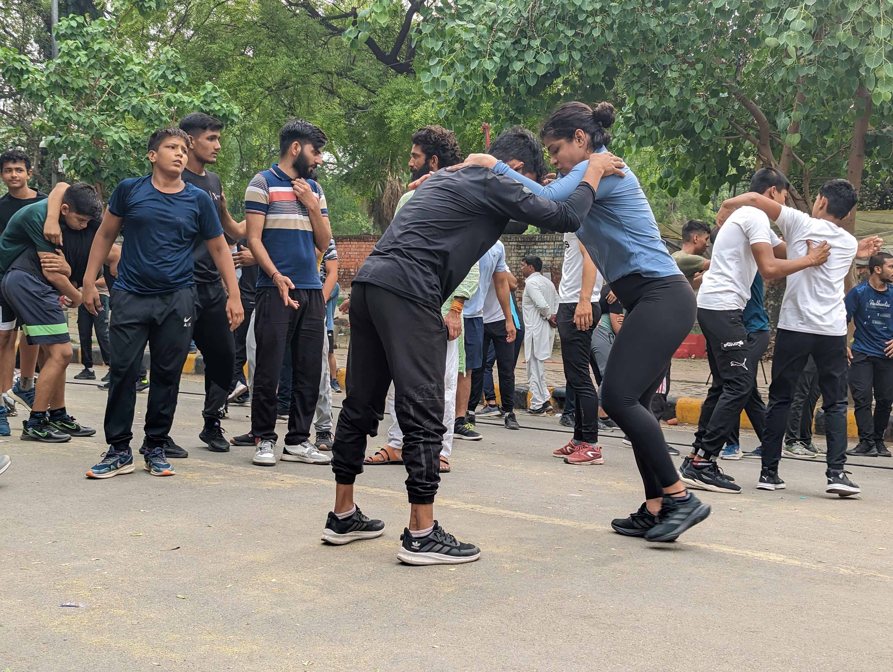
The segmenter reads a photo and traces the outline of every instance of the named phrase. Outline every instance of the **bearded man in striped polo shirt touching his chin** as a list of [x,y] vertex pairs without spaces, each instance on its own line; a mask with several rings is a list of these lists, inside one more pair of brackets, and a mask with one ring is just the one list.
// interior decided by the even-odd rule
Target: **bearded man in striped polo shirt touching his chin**
[[251,434],[259,466],[276,464],[276,388],[286,348],[292,363],[288,434],[282,460],[329,464],[310,441],[322,375],[325,302],[316,250],[329,247],[326,197],[313,179],[326,134],[305,120],[280,131],[280,161],[257,173],[245,192],[248,247],[258,265],[257,363]]

